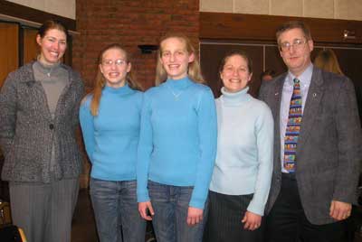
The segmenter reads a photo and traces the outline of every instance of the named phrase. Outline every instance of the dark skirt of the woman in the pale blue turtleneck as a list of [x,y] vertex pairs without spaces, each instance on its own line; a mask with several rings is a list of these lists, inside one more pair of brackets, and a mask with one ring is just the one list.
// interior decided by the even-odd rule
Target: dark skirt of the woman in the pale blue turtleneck
[[262,242],[262,226],[253,231],[243,228],[243,216],[252,196],[209,191],[204,242]]

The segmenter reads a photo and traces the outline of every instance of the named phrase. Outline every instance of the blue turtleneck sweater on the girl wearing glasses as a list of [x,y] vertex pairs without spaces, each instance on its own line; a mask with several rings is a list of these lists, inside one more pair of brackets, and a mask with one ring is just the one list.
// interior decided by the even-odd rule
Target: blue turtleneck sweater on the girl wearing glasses
[[103,88],[98,116],[90,114],[90,95],[81,104],[81,131],[92,163],[92,178],[136,180],[142,98],[142,92],[126,84],[122,88]]

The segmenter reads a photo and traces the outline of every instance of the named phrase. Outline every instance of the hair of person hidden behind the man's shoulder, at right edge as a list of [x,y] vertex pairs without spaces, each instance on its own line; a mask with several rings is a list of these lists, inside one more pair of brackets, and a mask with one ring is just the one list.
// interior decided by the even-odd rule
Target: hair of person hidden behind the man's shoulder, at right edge
[[316,59],[314,60],[314,65],[321,70],[326,70],[329,72],[337,73],[343,75],[342,70],[340,70],[338,59],[334,51],[330,49],[319,51]]

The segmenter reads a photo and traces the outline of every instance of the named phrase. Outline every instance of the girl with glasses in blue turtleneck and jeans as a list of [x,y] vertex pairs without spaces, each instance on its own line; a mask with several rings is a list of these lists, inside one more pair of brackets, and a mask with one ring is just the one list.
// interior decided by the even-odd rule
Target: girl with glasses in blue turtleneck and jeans
[[[136,163],[143,94],[119,44],[100,52],[95,87],[81,104],[81,131],[92,164],[90,198],[100,242],[143,242]],[[123,238],[123,239],[122,239]]]

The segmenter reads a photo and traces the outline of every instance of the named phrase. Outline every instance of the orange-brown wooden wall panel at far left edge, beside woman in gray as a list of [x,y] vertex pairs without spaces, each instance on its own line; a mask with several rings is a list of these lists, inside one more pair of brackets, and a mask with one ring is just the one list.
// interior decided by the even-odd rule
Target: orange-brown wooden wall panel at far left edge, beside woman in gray
[[0,88],[8,73],[19,66],[19,25],[0,23]]

